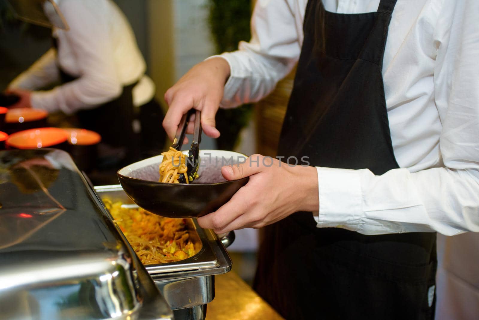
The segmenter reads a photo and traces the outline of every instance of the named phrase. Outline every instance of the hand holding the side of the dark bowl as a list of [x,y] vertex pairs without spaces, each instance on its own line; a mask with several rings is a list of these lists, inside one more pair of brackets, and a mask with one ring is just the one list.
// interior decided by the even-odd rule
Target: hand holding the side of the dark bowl
[[318,174],[314,167],[291,167],[256,154],[243,164],[221,168],[221,173],[228,180],[246,176],[250,180],[216,212],[199,217],[202,228],[214,229],[216,233],[262,228],[297,211],[319,209]]

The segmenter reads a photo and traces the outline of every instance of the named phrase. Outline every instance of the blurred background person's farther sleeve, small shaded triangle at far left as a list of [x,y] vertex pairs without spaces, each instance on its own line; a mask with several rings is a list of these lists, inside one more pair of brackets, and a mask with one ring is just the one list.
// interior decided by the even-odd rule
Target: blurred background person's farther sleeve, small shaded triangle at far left
[[36,90],[59,80],[56,50],[50,48],[9,84],[10,89]]

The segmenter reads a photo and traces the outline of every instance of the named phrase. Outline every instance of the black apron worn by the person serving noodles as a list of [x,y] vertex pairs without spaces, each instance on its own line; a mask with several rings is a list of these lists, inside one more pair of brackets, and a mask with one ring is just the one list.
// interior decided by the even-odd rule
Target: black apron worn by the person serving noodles
[[[278,155],[376,175],[399,168],[382,78],[395,3],[338,14],[308,1]],[[317,228],[298,212],[264,228],[254,287],[286,319],[433,319],[435,239]]]

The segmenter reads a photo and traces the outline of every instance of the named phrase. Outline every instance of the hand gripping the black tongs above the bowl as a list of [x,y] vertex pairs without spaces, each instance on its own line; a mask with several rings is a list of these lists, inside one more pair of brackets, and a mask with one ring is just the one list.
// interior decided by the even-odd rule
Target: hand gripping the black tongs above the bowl
[[[229,65],[223,58],[203,61],[190,69],[165,93],[169,109],[163,127],[171,140],[182,115],[194,108],[201,111],[201,126],[209,137],[219,137],[215,128],[215,115],[223,98],[223,90],[229,77]],[[187,133],[193,133],[194,118],[190,119]]]

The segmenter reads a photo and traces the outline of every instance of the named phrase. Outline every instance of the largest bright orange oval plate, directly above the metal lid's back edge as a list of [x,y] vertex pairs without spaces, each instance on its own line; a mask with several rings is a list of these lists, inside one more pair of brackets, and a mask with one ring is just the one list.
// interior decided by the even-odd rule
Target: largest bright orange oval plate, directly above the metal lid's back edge
[[68,132],[60,128],[36,128],[16,132],[7,145],[16,149],[48,148],[67,141]]

